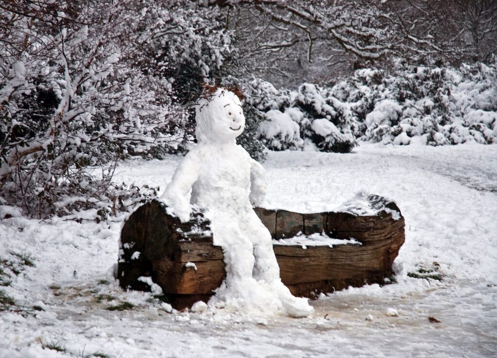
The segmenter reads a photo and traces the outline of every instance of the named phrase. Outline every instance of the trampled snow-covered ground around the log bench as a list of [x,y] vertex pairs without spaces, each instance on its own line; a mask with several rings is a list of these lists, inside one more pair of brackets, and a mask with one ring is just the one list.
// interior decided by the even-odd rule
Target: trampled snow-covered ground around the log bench
[[[123,164],[118,179],[164,189],[180,159]],[[331,210],[358,191],[395,200],[406,219],[398,283],[323,296],[305,319],[167,313],[108,278],[121,222],[14,217],[0,221],[11,276],[0,290],[19,306],[0,312],[0,358],[496,357],[496,145],[363,144],[353,154],[270,153],[263,166],[268,207]],[[423,270],[442,280],[408,276]],[[107,309],[122,302],[135,306]]]

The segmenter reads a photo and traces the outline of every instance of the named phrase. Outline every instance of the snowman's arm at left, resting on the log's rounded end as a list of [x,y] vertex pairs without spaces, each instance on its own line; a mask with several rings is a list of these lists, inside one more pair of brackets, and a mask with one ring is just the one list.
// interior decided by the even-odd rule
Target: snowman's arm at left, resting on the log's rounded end
[[166,191],[161,196],[168,208],[172,210],[172,214],[177,216],[181,222],[190,220],[192,209],[185,195],[197,181],[199,170],[197,155],[190,151],[179,164],[171,182],[166,186]]

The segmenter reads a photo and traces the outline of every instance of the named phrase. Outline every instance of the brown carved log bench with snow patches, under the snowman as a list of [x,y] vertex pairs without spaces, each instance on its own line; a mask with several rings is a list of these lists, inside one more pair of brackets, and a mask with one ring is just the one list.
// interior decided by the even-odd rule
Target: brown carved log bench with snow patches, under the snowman
[[[356,241],[305,248],[273,241],[281,279],[293,294],[313,297],[348,286],[383,284],[392,275],[392,263],[405,240],[404,217],[395,203],[381,196],[363,199],[365,205],[357,207],[351,201],[338,212],[254,209],[274,239],[324,233]],[[121,232],[120,286],[150,290],[144,280],[138,280],[147,276],[162,287],[175,308],[207,302],[226,274],[223,250],[213,246],[209,224],[202,212],[181,223],[157,199],[139,207]]]

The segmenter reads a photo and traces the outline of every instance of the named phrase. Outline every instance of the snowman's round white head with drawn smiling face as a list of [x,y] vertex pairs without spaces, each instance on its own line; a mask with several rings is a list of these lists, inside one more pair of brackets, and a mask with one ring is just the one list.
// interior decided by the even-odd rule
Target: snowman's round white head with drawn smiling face
[[199,100],[195,120],[195,135],[200,144],[233,142],[245,129],[240,98],[223,88],[217,88]]

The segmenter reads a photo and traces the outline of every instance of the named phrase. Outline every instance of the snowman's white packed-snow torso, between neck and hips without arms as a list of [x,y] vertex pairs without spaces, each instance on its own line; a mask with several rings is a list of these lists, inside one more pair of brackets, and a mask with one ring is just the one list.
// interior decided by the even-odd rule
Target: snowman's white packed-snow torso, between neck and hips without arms
[[223,211],[251,208],[248,153],[234,143],[199,144],[195,151],[200,170],[191,203]]

